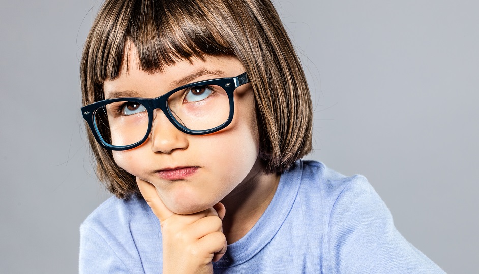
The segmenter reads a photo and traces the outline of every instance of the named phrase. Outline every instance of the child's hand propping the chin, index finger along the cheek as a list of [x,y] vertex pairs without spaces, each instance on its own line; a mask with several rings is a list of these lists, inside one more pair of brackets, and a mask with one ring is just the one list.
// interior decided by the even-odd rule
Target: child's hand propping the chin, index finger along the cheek
[[163,238],[163,273],[213,273],[228,246],[223,234],[226,209],[219,202],[207,210],[179,215],[170,211],[155,186],[136,178],[143,198],[160,220]]

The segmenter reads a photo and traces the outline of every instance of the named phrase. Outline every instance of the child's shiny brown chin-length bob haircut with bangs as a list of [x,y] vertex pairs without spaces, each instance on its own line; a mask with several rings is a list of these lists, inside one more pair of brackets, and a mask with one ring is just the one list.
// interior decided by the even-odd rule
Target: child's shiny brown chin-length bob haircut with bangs
[[[83,105],[104,99],[103,82],[119,76],[129,43],[148,73],[179,60],[235,56],[251,80],[265,171],[283,172],[311,151],[306,77],[270,0],[107,0],[83,49]],[[140,195],[135,177],[87,132],[100,181],[118,198]]]

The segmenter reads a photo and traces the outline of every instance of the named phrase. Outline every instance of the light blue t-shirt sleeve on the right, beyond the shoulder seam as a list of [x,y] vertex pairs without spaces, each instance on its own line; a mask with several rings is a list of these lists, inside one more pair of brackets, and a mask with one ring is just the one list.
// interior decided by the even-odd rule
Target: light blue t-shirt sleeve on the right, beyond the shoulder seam
[[444,273],[399,233],[363,176],[353,177],[335,201],[327,242],[333,273]]

